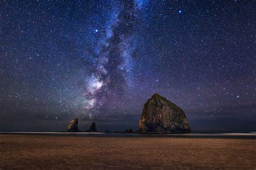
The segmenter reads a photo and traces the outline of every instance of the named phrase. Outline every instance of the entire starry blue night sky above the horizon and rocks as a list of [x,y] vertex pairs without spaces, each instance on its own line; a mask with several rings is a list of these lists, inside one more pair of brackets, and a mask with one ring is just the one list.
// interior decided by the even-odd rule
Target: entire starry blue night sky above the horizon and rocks
[[0,130],[138,130],[158,93],[192,130],[256,130],[254,1],[0,1]]

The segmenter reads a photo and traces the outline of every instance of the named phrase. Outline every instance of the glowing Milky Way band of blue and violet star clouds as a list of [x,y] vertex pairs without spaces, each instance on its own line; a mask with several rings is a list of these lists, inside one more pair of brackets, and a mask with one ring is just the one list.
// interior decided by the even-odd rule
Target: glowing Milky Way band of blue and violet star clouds
[[[99,39],[87,47],[86,56],[92,60],[92,74],[86,80],[83,105],[88,113],[95,107],[102,107],[104,98],[123,91],[132,84],[132,54],[137,48],[134,37],[136,26],[136,3],[112,4],[116,10],[111,13],[106,29],[95,29]],[[117,94],[117,97],[120,93]]]

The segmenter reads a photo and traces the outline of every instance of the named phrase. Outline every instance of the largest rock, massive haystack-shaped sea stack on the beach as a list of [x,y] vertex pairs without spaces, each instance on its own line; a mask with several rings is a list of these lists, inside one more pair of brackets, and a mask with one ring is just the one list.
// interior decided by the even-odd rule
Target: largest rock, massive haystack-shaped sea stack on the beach
[[190,132],[186,115],[177,105],[163,96],[154,94],[144,104],[139,132],[172,133]]

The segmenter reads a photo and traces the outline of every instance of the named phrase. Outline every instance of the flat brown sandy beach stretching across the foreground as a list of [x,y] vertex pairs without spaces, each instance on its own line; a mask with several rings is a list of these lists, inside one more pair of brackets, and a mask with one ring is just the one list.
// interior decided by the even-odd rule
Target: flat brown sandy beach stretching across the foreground
[[7,168],[256,168],[256,139],[0,134]]

